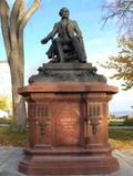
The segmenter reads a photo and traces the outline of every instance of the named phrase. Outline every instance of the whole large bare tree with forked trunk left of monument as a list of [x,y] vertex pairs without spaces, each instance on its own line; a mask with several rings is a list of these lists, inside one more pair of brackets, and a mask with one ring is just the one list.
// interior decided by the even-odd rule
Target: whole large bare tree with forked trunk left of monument
[[7,0],[0,0],[1,30],[11,72],[13,122],[18,130],[25,128],[24,100],[18,95],[18,87],[24,85],[23,29],[41,0],[34,0],[24,11],[24,0],[14,0],[10,9]]

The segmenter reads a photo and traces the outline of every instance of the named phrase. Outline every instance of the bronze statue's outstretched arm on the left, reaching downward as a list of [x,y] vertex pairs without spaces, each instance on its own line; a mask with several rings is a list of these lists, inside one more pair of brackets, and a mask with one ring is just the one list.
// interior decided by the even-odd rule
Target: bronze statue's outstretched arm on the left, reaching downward
[[49,42],[50,39],[53,39],[57,32],[58,32],[58,24],[55,23],[53,30],[44,39],[41,40],[41,43],[45,44],[47,42]]

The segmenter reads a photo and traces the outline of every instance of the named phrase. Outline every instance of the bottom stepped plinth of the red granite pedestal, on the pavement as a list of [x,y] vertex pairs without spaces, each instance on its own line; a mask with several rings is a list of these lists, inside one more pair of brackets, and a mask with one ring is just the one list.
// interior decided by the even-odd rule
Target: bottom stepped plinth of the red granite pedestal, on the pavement
[[[117,159],[111,155],[101,154],[102,151],[92,152],[80,148],[79,151],[59,152],[51,151],[25,151],[25,158],[20,162],[19,170],[30,175],[88,175],[106,174],[119,169]],[[106,151],[108,152],[108,151]],[[32,154],[31,154],[32,153]],[[40,155],[39,155],[40,153]]]

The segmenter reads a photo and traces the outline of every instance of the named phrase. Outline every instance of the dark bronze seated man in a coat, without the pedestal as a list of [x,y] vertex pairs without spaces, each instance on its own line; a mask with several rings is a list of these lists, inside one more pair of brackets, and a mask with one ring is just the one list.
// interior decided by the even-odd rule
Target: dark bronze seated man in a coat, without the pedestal
[[[61,21],[57,22],[53,30],[41,41],[45,44],[52,40],[52,44],[47,52],[51,62],[86,62],[82,33],[76,21],[69,19],[69,9],[62,8],[59,12]],[[53,39],[58,34],[58,38]]]

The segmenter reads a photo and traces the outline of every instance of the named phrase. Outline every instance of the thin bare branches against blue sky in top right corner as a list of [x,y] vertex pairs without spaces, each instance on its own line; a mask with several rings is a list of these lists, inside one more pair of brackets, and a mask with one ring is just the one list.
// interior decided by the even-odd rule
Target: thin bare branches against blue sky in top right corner
[[110,19],[115,19],[124,34],[133,37],[133,0],[114,0],[109,2],[104,9],[104,23]]

